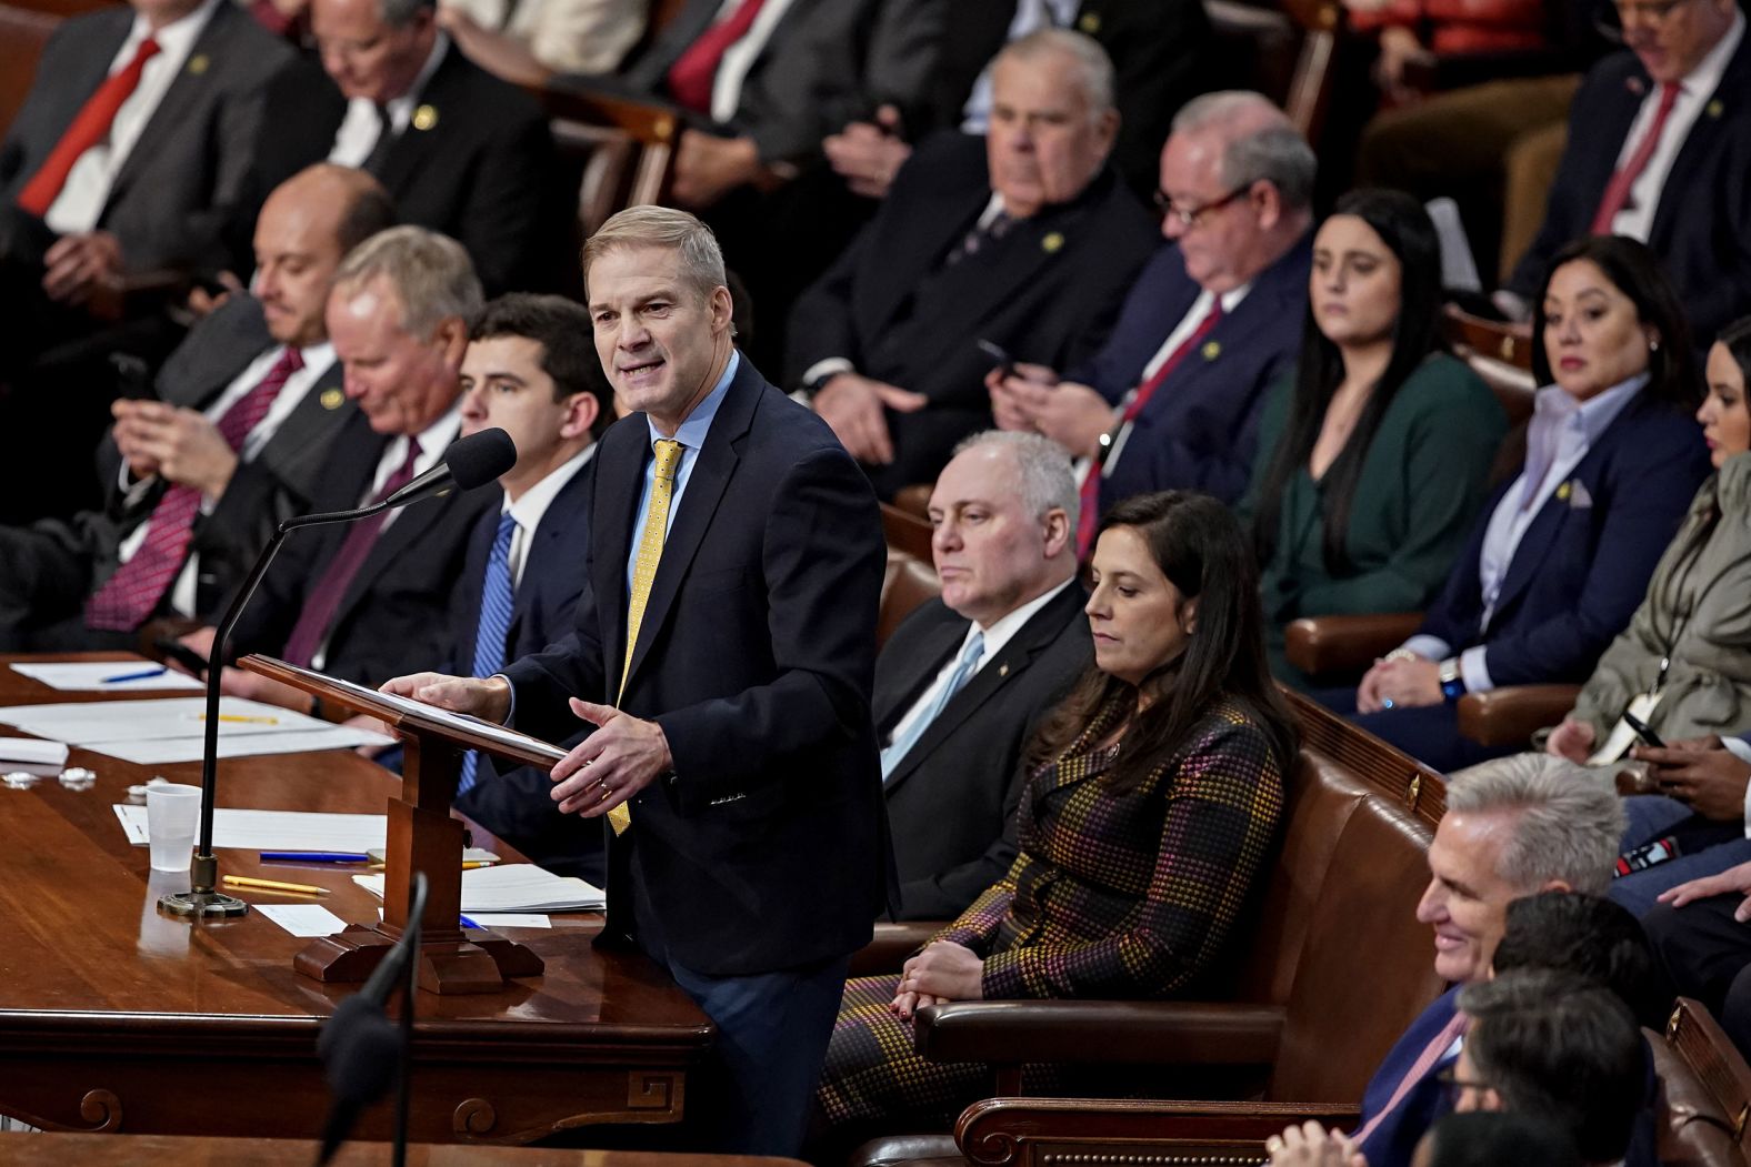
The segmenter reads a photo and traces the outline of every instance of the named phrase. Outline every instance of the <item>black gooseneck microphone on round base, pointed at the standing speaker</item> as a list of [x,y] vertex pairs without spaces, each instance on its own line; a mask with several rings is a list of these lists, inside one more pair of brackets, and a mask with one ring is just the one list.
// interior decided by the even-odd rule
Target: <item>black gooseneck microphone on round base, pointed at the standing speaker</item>
[[352,511],[324,511],[319,514],[296,514],[284,520],[261,549],[256,565],[249,569],[243,586],[231,597],[231,605],[214,628],[212,658],[207,661],[207,726],[201,751],[201,829],[200,845],[189,863],[189,891],[172,892],[158,899],[158,906],[172,915],[186,917],[231,917],[249,912],[249,905],[236,896],[228,896],[214,889],[219,878],[219,861],[214,857],[214,791],[219,786],[219,682],[224,674],[224,661],[231,644],[231,630],[236,626],[243,607],[256,595],[261,579],[268,574],[273,556],[285,546],[285,539],[299,527],[320,527],[326,523],[352,523],[371,518],[383,511],[404,507],[452,486],[473,490],[485,486],[517,465],[517,444],[503,429],[487,429],[450,443],[443,460],[425,471],[406,486],[389,495],[382,502],[371,502]]

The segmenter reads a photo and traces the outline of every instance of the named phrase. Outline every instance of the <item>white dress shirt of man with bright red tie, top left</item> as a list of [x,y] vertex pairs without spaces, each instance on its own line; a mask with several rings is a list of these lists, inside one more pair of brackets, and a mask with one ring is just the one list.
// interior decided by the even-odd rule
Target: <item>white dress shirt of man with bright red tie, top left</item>
[[67,171],[61,192],[49,203],[49,212],[42,217],[56,234],[82,234],[98,226],[103,217],[103,205],[109,201],[110,185],[121,171],[133,143],[140,140],[145,122],[152,121],[158,103],[170,91],[170,82],[182,72],[189,59],[194,40],[207,28],[221,0],[207,0],[180,21],[165,24],[156,33],[144,16],[133,17],[128,38],[121,42],[121,51],[110,61],[109,77],[128,66],[147,37],[158,40],[158,54],[147,59],[140,70],[140,84],[128,94],[128,100],[116,110],[110,122],[109,138],[98,142],[79,156],[74,168]]

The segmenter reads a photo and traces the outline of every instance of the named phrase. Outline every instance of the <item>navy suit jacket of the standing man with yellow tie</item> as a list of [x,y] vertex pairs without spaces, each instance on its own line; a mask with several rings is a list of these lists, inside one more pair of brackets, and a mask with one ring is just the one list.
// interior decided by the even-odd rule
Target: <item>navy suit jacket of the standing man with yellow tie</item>
[[672,516],[625,691],[627,556],[650,429],[634,413],[590,465],[576,628],[506,668],[515,724],[548,740],[569,696],[657,721],[672,775],[609,843],[609,941],[651,927],[681,966],[772,973],[865,945],[888,838],[870,723],[886,553],[876,495],[821,418],[744,355]]

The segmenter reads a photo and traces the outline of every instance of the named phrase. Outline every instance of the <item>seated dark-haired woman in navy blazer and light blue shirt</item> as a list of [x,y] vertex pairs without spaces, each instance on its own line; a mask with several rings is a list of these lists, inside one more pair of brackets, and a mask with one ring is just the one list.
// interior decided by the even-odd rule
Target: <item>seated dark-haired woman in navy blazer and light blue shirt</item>
[[1581,682],[1641,604],[1709,453],[1690,329],[1653,254],[1593,236],[1539,290],[1522,472],[1471,535],[1422,628],[1333,709],[1438,770],[1513,752],[1459,735],[1466,693]]

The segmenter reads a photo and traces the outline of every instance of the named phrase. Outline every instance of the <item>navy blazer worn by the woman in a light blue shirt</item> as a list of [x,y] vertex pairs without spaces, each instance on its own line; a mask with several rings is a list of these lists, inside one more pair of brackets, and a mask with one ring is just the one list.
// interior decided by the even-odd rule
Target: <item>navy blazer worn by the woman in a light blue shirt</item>
[[1513,481],[1483,507],[1420,632],[1455,653],[1487,644],[1499,686],[1585,682],[1628,626],[1709,469],[1690,415],[1637,394],[1571,472],[1576,488],[1553,493],[1527,527],[1488,626],[1478,562],[1490,514]]

